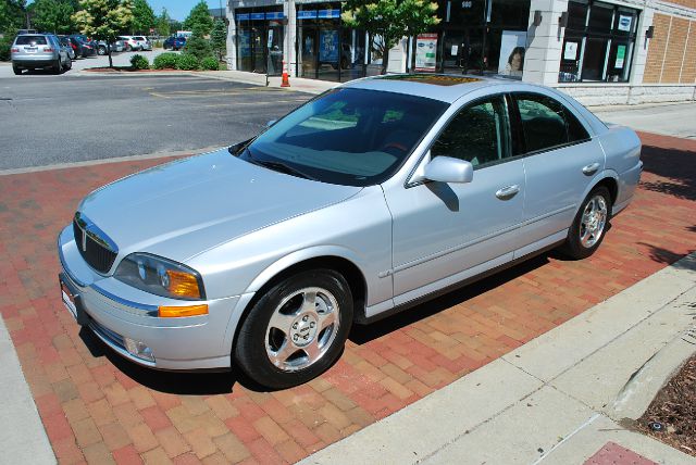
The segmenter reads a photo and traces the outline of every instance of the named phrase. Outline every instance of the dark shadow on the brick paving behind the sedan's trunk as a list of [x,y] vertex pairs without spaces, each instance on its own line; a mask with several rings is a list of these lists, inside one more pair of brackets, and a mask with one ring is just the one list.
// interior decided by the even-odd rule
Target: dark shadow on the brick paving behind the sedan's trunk
[[696,200],[696,153],[643,146],[643,169],[668,180],[641,181],[644,189],[684,200]]

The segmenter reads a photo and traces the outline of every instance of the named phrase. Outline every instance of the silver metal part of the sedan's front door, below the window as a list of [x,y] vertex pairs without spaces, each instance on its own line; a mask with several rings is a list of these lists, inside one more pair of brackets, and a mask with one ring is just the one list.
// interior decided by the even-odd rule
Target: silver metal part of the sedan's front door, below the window
[[[509,186],[520,192],[500,200]],[[414,290],[521,247],[522,160],[474,172],[468,184],[427,183],[387,192],[394,216],[394,294]]]

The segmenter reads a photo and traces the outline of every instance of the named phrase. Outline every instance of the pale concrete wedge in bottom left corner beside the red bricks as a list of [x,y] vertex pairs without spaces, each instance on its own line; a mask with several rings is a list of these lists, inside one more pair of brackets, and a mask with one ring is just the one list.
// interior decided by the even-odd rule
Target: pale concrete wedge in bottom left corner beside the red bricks
[[55,456],[0,317],[0,464],[54,464]]

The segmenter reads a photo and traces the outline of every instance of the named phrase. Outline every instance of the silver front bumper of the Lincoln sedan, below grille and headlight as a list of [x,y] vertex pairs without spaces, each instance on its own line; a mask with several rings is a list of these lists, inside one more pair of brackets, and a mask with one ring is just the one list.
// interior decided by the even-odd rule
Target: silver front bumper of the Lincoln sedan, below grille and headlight
[[[207,315],[160,318],[157,316],[159,305],[191,302],[150,294],[98,274],[79,254],[71,227],[61,231],[58,250],[63,268],[60,278],[75,294],[75,305],[84,312],[77,313],[78,323],[89,327],[115,352],[140,365],[162,369],[231,366],[232,336],[236,326],[232,316],[240,313],[238,306],[248,302],[246,297],[195,302],[208,304]],[[126,338],[150,348],[154,360],[129,353]]]

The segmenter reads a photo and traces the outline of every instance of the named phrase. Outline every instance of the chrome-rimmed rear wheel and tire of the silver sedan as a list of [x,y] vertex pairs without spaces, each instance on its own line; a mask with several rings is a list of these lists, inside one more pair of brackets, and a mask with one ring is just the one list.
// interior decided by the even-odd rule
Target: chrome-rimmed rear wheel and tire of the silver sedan
[[563,252],[572,259],[585,259],[599,248],[611,212],[611,196],[606,187],[594,188],[573,221]]

